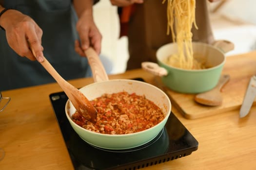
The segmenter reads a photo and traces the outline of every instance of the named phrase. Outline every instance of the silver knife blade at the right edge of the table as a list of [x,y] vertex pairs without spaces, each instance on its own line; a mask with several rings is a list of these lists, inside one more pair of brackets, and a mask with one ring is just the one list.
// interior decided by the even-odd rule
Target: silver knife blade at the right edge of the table
[[243,103],[240,108],[240,118],[245,117],[249,113],[255,97],[256,97],[256,75],[252,76],[250,83],[247,87],[247,90],[243,99]]

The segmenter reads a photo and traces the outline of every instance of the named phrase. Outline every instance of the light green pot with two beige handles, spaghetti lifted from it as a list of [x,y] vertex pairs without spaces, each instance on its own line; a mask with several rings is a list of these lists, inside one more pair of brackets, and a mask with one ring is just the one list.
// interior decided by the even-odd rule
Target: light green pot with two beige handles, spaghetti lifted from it
[[205,65],[210,68],[192,70],[165,64],[164,60],[167,57],[178,53],[176,43],[169,43],[158,49],[156,53],[158,67],[149,65],[149,62],[143,62],[141,66],[148,72],[160,76],[163,84],[176,92],[202,93],[211,90],[217,85],[226,61],[224,52],[232,50],[234,44],[228,41],[215,42],[214,45],[193,42],[192,46],[195,54],[205,56]]

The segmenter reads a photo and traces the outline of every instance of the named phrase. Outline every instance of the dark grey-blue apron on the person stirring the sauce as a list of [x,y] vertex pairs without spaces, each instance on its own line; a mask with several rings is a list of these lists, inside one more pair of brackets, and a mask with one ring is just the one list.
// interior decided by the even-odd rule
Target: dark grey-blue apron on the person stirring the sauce
[[[77,16],[71,0],[5,0],[5,8],[14,8],[32,17],[43,30],[44,56],[66,80],[85,77],[90,70],[87,59],[74,50]],[[0,91],[55,82],[37,62],[20,57],[0,30]]]

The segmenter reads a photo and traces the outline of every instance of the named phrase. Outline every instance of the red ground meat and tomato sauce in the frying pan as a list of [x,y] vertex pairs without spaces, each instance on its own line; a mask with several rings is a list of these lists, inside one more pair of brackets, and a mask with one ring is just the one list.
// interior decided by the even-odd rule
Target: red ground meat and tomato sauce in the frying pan
[[97,123],[78,112],[72,119],[79,126],[101,134],[130,134],[151,128],[164,119],[161,109],[145,96],[119,92],[103,94],[90,101],[98,111]]

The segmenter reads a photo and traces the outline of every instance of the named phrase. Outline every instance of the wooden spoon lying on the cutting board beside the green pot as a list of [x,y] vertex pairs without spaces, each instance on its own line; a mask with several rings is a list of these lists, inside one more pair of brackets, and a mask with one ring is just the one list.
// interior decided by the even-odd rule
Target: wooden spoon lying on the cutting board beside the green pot
[[218,106],[222,103],[222,96],[220,89],[225,85],[230,79],[229,75],[222,75],[219,79],[218,84],[215,88],[210,91],[199,93],[195,96],[195,101],[204,105]]

